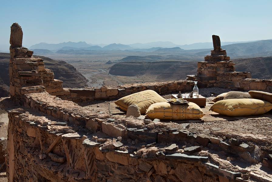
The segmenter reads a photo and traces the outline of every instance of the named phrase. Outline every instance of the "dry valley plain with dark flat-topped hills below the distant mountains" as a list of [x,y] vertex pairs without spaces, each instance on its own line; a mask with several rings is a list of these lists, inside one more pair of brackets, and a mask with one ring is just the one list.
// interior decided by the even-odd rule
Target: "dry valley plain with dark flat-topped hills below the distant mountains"
[[[110,51],[90,55],[48,55],[56,60],[67,61],[88,79],[89,87],[120,85],[152,81],[185,79],[196,74],[197,61],[173,55],[153,55],[149,52]],[[141,56],[138,56],[141,55]],[[180,58],[180,60],[178,60]],[[234,59],[236,71],[250,71],[253,78],[271,78],[272,57]]]

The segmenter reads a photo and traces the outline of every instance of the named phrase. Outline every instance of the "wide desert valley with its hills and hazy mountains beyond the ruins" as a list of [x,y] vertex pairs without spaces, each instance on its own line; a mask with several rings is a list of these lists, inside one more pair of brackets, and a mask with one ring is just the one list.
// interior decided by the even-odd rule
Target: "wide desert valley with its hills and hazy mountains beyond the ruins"
[[[269,56],[272,56],[272,40],[230,43],[234,44],[225,43],[222,48],[236,63],[236,71],[249,71],[253,78],[271,78],[272,57]],[[197,62],[204,61],[203,58],[210,52],[210,48],[205,48],[210,47],[209,43],[171,46],[175,45],[171,42],[154,42],[100,47],[86,42],[64,42],[40,43],[31,48],[34,54],[45,59],[46,67],[55,72],[55,78],[64,81],[64,87],[101,87],[185,79],[187,75],[196,73]],[[202,49],[183,49],[194,46]],[[8,93],[6,74],[9,54],[1,53],[0,59],[3,65],[1,90]]]

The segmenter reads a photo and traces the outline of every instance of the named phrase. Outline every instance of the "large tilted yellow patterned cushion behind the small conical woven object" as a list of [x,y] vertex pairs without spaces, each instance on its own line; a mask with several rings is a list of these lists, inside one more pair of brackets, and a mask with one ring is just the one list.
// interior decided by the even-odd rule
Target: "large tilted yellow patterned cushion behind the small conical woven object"
[[124,111],[127,111],[128,106],[131,104],[138,105],[141,114],[144,114],[146,109],[154,103],[157,102],[166,102],[157,92],[153,90],[145,90],[138,93],[134,93],[128,96],[125,96],[121,99],[118,99],[114,103],[119,106]]

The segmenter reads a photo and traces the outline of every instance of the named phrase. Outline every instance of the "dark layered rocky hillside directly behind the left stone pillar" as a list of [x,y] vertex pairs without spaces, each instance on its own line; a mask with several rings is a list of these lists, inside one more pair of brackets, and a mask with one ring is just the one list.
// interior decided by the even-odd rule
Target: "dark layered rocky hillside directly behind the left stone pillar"
[[[0,53],[0,97],[5,97],[9,93],[9,53]],[[87,87],[87,79],[80,74],[72,65],[65,61],[56,61],[47,57],[44,59],[46,68],[54,71],[55,78],[63,81],[63,87]]]

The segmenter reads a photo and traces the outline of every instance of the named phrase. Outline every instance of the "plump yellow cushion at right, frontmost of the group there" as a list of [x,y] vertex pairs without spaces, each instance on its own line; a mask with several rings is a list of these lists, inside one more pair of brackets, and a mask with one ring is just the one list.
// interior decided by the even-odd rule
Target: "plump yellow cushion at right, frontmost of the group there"
[[258,99],[226,99],[217,101],[210,111],[226,116],[249,116],[264,114],[272,109],[272,104]]

